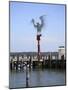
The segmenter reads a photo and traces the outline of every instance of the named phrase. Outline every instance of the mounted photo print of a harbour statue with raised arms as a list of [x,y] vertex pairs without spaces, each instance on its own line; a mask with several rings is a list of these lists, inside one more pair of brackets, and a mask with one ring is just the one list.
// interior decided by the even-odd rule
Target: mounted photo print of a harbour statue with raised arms
[[9,88],[66,85],[66,5],[9,1]]

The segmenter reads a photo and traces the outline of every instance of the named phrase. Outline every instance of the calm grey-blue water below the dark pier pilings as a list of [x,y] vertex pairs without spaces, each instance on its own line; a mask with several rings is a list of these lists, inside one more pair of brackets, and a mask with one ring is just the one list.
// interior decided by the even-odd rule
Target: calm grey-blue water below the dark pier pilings
[[[10,72],[9,87],[26,87],[26,71]],[[32,70],[29,72],[29,87],[65,85],[64,70]]]

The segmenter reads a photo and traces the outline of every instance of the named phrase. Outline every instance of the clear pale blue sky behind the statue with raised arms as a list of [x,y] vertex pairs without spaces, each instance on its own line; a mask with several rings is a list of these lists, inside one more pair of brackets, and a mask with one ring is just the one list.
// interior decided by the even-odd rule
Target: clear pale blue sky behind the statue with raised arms
[[10,52],[37,52],[37,29],[31,20],[40,23],[42,15],[41,52],[65,46],[65,5],[10,2]]

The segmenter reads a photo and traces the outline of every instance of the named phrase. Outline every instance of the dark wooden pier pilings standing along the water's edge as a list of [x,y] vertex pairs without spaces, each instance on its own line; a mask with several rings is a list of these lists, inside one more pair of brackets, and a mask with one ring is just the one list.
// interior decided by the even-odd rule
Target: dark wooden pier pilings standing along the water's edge
[[[35,68],[37,67],[38,65],[38,59],[21,59],[21,60],[14,60],[14,59],[11,59],[10,61],[10,69],[11,70],[24,70],[24,67],[26,66],[26,63],[29,64],[29,68]],[[64,59],[61,59],[61,60],[58,60],[58,59],[41,59],[40,60],[40,63],[41,63],[41,68],[66,68],[66,60]]]

